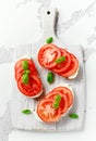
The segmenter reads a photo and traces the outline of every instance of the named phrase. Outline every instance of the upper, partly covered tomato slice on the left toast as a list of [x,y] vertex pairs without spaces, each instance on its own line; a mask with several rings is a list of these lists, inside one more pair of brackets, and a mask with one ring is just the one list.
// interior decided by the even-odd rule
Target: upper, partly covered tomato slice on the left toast
[[20,77],[24,74],[24,69],[22,68],[22,62],[23,61],[27,61],[28,62],[28,69],[31,72],[31,74],[33,75],[37,75],[37,70],[35,68],[35,64],[32,60],[28,59],[22,59],[20,61],[16,62],[15,64],[15,79],[19,80]]

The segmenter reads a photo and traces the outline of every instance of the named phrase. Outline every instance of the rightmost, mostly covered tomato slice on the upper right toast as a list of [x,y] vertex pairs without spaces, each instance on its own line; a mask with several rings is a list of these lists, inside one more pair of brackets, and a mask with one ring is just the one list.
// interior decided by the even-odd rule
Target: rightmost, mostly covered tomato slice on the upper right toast
[[79,69],[77,59],[71,53],[70,53],[70,55],[71,55],[71,65],[65,72],[59,73],[60,76],[69,77],[71,75],[74,75],[76,73],[76,70]]

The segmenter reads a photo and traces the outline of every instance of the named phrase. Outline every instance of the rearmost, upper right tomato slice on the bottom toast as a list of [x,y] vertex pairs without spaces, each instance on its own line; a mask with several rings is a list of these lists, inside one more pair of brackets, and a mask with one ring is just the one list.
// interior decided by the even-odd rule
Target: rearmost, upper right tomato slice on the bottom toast
[[55,88],[52,91],[57,91],[61,93],[61,95],[65,95],[67,97],[67,101],[68,101],[68,107],[70,107],[73,104],[73,93],[72,91],[67,88],[67,87],[57,87]]

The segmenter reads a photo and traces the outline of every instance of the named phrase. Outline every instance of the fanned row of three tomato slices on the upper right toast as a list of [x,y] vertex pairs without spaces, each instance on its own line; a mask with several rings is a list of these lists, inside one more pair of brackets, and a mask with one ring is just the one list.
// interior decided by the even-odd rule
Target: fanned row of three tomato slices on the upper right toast
[[[65,56],[65,60],[61,63],[56,63],[56,60],[61,56]],[[45,44],[40,48],[38,52],[38,62],[41,66],[67,78],[74,75],[79,69],[79,61],[75,55],[52,43]]]

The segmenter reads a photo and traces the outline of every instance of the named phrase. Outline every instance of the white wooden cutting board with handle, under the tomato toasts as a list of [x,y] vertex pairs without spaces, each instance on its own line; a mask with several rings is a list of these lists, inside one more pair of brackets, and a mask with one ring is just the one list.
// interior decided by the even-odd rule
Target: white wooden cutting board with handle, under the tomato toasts
[[[24,97],[21,94],[21,92],[17,90],[15,79],[13,79],[13,86],[12,86],[12,103],[11,103],[11,117],[12,117],[12,125],[15,128],[19,129],[25,129],[25,130],[39,130],[39,131],[70,131],[70,130],[80,130],[84,127],[84,116],[85,116],[85,70],[84,70],[84,62],[83,62],[83,50],[81,47],[68,47],[69,51],[74,53],[80,62],[80,73],[79,76],[74,80],[68,80],[64,79],[58,75],[56,75],[55,82],[50,86],[48,85],[46,80],[46,76],[48,70],[39,66],[36,54],[38,49],[45,44],[46,38],[52,36],[53,37],[53,43],[64,48],[60,43],[60,41],[57,39],[57,37],[53,34],[53,25],[55,25],[55,16],[56,11],[50,10],[50,15],[48,17],[45,15],[46,12],[43,14],[43,23],[44,23],[44,36],[43,38],[35,43],[26,44],[26,46],[20,46],[15,49],[15,61],[21,59],[24,55],[29,55],[34,59],[36,67],[38,69],[39,76],[41,78],[45,93],[48,93],[51,89],[53,89],[57,86],[60,86],[60,84],[71,84],[75,93],[75,100],[74,105],[70,112],[77,113],[79,119],[71,119],[69,118],[69,114],[67,114],[65,117],[62,117],[59,123],[57,124],[45,124],[38,121],[34,114],[31,115],[24,115],[22,114],[22,110],[24,108],[31,108],[34,111],[36,108],[37,100],[33,100],[29,98]],[[49,24],[48,24],[49,23]]]

